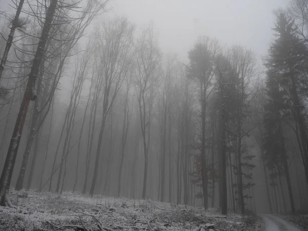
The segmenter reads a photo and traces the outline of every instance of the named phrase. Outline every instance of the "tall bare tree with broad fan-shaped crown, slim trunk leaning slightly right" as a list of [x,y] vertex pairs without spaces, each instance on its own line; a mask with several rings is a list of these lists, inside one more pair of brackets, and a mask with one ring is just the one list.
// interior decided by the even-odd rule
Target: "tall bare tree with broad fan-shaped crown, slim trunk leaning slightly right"
[[95,183],[98,177],[99,160],[101,156],[102,140],[106,120],[118,95],[124,77],[130,67],[131,50],[133,43],[134,26],[126,18],[115,18],[103,23],[102,31],[98,33],[97,48],[101,62],[101,78],[104,78],[103,86],[103,114],[99,133],[98,147],[95,156],[93,179],[90,195],[94,193]]

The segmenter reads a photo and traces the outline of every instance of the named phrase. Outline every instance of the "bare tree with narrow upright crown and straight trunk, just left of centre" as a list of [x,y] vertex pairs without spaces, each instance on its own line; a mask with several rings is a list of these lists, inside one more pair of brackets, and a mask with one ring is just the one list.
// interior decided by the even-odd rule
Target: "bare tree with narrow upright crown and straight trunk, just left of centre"
[[139,104],[141,132],[143,137],[143,199],[146,197],[150,125],[152,119],[153,101],[157,91],[157,68],[160,63],[160,59],[161,53],[158,47],[157,36],[155,35],[153,26],[149,25],[147,28],[143,29],[137,42],[135,55],[136,78],[134,79],[134,87],[136,89]]

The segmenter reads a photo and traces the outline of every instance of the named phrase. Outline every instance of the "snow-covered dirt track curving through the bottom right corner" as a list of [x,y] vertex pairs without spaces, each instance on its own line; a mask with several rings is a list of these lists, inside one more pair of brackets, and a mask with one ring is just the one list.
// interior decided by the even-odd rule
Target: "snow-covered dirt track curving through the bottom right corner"
[[265,221],[266,231],[301,231],[285,220],[272,215],[264,215],[263,219]]

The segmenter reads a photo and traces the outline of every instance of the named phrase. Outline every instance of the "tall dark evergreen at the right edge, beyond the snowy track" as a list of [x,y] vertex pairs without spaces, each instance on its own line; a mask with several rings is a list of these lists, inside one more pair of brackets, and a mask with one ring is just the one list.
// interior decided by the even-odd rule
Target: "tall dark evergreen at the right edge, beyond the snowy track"
[[[294,200],[290,175],[288,172],[287,153],[283,134],[283,121],[294,117],[299,125],[302,158],[307,175],[306,126],[302,115],[300,101],[304,93],[304,63],[307,54],[305,44],[298,38],[294,30],[294,22],[284,12],[277,12],[274,28],[276,40],[268,50],[265,61],[267,68],[267,97],[265,110],[265,159],[271,171],[282,168],[288,186],[291,210],[294,213]],[[283,167],[282,167],[283,166]]]

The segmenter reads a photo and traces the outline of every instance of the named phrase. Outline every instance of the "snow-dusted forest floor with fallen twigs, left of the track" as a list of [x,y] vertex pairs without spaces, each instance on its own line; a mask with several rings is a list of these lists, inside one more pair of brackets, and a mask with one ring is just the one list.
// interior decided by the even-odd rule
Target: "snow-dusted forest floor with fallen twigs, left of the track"
[[[18,200],[17,200],[18,194]],[[10,191],[15,208],[0,207],[0,230],[264,230],[260,217],[151,200],[78,193]],[[213,224],[213,225],[209,225]],[[212,228],[212,229],[210,229]]]

